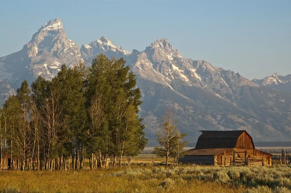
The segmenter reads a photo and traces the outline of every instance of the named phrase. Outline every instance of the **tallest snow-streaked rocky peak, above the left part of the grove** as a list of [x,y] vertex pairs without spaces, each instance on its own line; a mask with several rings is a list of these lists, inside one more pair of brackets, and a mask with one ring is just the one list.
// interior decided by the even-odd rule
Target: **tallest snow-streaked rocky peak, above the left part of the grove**
[[0,58],[0,80],[16,89],[24,79],[32,82],[39,75],[51,79],[62,64],[71,66],[82,60],[80,48],[68,39],[62,21],[54,19],[34,33],[20,51]]

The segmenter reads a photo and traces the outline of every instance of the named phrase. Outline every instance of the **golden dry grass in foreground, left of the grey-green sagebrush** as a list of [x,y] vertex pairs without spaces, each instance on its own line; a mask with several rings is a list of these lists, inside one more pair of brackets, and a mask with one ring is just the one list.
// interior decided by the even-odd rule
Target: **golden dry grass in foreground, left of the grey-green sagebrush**
[[[148,167],[143,169],[150,170]],[[143,170],[142,169],[142,170]],[[143,175],[141,166],[133,169],[112,168],[108,170],[84,170],[70,172],[20,172],[1,171],[0,190],[23,193],[231,193],[242,192],[242,188],[227,184],[205,182],[198,179],[171,178],[164,175]],[[126,172],[132,174],[126,174]],[[149,172],[149,171],[146,171]]]

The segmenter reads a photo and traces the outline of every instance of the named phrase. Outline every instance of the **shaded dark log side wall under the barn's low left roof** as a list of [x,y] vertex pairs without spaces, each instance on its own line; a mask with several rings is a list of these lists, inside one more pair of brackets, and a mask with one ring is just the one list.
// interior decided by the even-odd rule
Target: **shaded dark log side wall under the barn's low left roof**
[[199,165],[214,165],[214,156],[184,156],[179,163],[194,163]]

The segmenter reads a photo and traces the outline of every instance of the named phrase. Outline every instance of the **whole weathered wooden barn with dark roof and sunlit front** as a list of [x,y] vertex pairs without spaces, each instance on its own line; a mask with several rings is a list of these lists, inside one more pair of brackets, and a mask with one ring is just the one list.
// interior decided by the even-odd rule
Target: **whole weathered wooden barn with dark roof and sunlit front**
[[202,130],[196,147],[187,151],[180,163],[201,165],[272,165],[272,155],[255,149],[245,130]]

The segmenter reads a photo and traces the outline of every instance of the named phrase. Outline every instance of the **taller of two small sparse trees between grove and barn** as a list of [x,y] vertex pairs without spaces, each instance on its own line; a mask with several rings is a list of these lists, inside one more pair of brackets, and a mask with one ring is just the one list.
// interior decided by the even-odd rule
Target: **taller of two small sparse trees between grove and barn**
[[159,157],[166,158],[166,167],[172,153],[173,143],[175,138],[179,135],[179,130],[176,127],[173,111],[168,109],[165,114],[162,115],[159,129],[157,131],[157,141],[162,147],[155,147],[154,154]]

